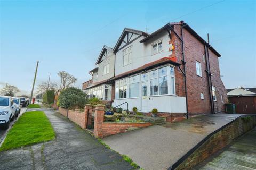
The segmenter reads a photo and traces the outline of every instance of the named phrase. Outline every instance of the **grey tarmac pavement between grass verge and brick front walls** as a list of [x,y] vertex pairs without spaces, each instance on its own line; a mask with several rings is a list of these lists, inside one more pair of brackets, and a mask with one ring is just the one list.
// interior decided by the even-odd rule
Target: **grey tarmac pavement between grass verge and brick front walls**
[[1,169],[133,169],[119,154],[67,118],[49,109],[44,112],[56,139],[0,152]]

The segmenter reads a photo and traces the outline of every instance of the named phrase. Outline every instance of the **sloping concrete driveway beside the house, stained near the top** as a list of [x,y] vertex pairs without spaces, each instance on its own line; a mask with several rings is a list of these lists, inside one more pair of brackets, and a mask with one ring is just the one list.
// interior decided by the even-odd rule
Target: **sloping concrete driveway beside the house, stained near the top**
[[111,149],[127,155],[143,169],[167,169],[207,134],[239,114],[204,115],[181,122],[150,126],[103,139]]

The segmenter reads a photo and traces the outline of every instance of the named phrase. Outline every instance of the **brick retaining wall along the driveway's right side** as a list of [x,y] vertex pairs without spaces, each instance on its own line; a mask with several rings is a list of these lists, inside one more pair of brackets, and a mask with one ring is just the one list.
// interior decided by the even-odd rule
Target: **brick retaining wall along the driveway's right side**
[[201,146],[199,146],[193,153],[191,153],[177,168],[172,169],[189,169],[191,166],[197,165],[214,152],[219,151],[225,146],[229,145],[231,141],[240,135],[246,133],[256,126],[256,116],[251,116],[251,120],[244,120],[237,118],[234,122],[227,125],[217,133],[211,135]]

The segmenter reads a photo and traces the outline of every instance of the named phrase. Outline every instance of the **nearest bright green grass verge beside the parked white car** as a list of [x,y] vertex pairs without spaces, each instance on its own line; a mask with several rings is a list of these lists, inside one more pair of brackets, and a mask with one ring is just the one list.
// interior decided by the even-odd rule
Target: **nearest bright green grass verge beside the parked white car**
[[43,111],[25,112],[7,133],[0,151],[19,148],[55,138],[55,132]]

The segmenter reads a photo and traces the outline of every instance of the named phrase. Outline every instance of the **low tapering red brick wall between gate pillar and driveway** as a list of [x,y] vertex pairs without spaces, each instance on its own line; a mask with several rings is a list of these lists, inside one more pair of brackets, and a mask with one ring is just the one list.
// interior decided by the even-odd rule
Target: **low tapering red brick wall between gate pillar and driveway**
[[146,128],[153,125],[152,123],[115,123],[115,122],[104,122],[102,124],[102,134],[103,137],[109,135],[124,133],[132,128]]

